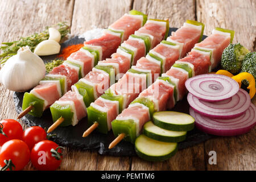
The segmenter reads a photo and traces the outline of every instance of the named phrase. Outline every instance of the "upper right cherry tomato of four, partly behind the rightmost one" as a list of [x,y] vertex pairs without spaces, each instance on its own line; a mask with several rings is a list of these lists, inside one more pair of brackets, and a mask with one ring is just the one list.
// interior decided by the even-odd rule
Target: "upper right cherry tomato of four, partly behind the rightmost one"
[[24,131],[22,140],[26,142],[30,150],[32,150],[36,143],[47,140],[47,134],[42,127],[32,126]]

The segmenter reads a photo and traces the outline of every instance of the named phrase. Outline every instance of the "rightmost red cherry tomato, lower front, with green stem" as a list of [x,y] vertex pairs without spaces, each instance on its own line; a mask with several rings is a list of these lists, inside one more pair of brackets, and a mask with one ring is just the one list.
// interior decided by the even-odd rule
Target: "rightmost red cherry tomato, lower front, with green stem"
[[42,171],[56,170],[61,163],[61,148],[51,140],[43,140],[35,144],[31,151],[33,166]]

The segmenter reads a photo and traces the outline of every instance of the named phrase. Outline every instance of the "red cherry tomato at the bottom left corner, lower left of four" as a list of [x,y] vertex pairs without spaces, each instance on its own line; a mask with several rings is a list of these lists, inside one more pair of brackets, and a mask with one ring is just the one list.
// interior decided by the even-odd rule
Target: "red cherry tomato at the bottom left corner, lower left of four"
[[0,165],[3,169],[19,171],[29,161],[30,149],[22,140],[13,139],[3,144],[0,150]]

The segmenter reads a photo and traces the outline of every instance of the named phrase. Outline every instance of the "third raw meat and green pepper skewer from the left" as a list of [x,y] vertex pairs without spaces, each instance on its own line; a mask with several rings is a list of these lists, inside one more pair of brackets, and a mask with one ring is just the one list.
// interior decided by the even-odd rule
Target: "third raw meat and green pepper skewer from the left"
[[[121,80],[110,87],[108,93],[90,104],[87,109],[89,125],[92,125],[93,129],[97,125],[98,131],[108,133],[112,128],[113,119],[138,97],[142,90],[151,85],[160,73],[166,72],[176,60],[191,51],[200,41],[203,31],[203,23],[188,20],[179,30],[172,32],[167,38],[168,41],[163,40],[151,49],[146,57],[139,59],[136,66],[131,67]],[[134,114],[137,113],[136,110],[139,111],[139,107],[136,107]],[[83,137],[92,132],[92,128],[85,131]]]

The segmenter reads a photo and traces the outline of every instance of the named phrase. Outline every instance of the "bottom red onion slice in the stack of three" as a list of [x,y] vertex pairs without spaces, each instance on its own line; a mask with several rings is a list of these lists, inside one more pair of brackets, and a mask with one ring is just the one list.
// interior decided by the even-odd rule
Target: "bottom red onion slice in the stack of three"
[[256,107],[250,104],[249,108],[240,117],[234,119],[208,118],[190,107],[190,115],[195,118],[196,127],[205,133],[218,136],[235,136],[247,133],[256,125]]

